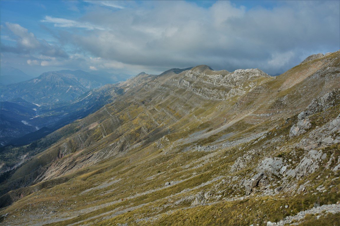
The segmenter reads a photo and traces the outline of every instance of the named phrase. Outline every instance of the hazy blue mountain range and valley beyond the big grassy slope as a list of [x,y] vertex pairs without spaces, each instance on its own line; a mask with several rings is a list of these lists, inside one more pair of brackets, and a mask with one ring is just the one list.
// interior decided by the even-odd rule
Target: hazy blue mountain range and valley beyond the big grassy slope
[[[0,102],[0,143],[29,144],[102,107],[122,74],[82,70],[50,71],[27,81],[3,85]],[[20,138],[20,139],[18,139]]]

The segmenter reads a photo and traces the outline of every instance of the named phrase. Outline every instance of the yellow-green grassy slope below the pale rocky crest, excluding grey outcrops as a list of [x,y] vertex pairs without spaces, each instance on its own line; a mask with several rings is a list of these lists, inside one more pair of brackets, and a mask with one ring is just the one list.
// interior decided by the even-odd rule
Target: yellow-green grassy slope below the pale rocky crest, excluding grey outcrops
[[[239,156],[247,150],[259,148],[266,140],[258,142],[255,146],[242,143],[238,146],[219,147],[209,151],[195,150],[197,145],[209,145],[231,132],[233,135],[227,138],[229,141],[266,130],[272,130],[274,133],[276,130],[274,127],[278,123],[283,123],[283,119],[299,113],[312,98],[338,86],[337,82],[326,84],[331,76],[326,76],[325,79],[311,76],[300,81],[300,76],[310,71],[310,67],[314,67],[313,72],[315,72],[320,69],[320,65],[323,66],[335,57],[336,62],[339,53],[298,65],[276,79],[259,80],[258,88],[226,101],[204,100],[185,89],[177,89],[176,93],[172,93],[171,87],[166,86],[155,85],[153,89],[137,86],[136,89],[130,89],[122,100],[116,100],[95,114],[76,122],[79,132],[60,139],[58,143],[18,169],[10,180],[19,180],[27,172],[34,171],[40,165],[48,164],[47,157],[56,158],[60,154],[61,145],[65,143],[69,144],[70,150],[64,158],[57,161],[59,164],[70,159],[80,163],[84,160],[84,156],[92,153],[105,156],[105,153],[111,149],[109,144],[122,143],[122,148],[115,155],[109,158],[98,158],[96,164],[69,170],[59,176],[59,181],[50,179],[13,191],[14,196],[24,197],[29,193],[32,194],[2,209],[1,213],[10,212],[12,216],[21,214],[23,209],[30,210],[37,218],[31,219],[30,223],[51,216],[69,218],[59,222],[59,225],[76,222],[80,224],[96,222],[98,225],[135,224],[138,219],[140,219],[138,224],[141,225],[249,225],[251,223],[262,225],[265,221],[277,221],[286,215],[311,208],[315,202],[335,203],[339,200],[339,179],[331,180],[336,178],[339,172],[327,175],[329,179],[325,185],[335,186],[321,197],[320,194],[313,195],[311,192],[295,197],[283,193],[276,196],[228,201],[231,197],[243,195],[244,190],[224,186],[226,191],[219,195],[222,195],[225,200],[190,208],[192,199],[188,199],[201,190],[211,190],[213,187],[221,186],[221,180],[229,175],[242,178],[250,173],[252,168],[246,168],[236,174],[229,170]],[[339,72],[335,72],[337,73]],[[176,77],[176,75],[172,76]],[[335,79],[339,81],[339,77]],[[319,85],[317,88],[314,87],[314,92],[304,88],[310,87],[311,84]],[[143,96],[136,93],[143,93]],[[281,110],[283,112],[280,112]],[[339,107],[329,111],[329,119],[334,118],[339,114]],[[190,142],[190,138],[204,134],[202,131],[217,129],[249,112],[252,114],[214,136],[202,137]],[[98,125],[92,128],[91,125],[94,123]],[[275,131],[278,133],[277,136],[286,135],[292,124],[293,121],[279,131]],[[170,141],[163,142],[162,146],[158,144],[157,147],[157,143],[154,142],[164,135]],[[143,140],[145,142],[141,146],[132,147]],[[263,155],[289,155],[289,153],[275,153],[275,145],[282,146],[284,142],[267,147],[258,158]],[[246,148],[240,151],[240,147]],[[339,147],[330,148],[332,151]],[[182,152],[183,150],[185,152]],[[46,163],[39,162],[42,159]],[[188,167],[185,167],[186,165]],[[326,173],[330,172],[321,173],[320,179],[317,178],[320,175],[318,172],[305,180],[314,179],[316,182],[323,183]],[[120,180],[115,182],[117,179]],[[211,180],[213,180],[211,183],[204,184]],[[173,185],[164,187],[166,181],[171,181]],[[86,189],[90,190],[86,191]],[[54,205],[49,205],[53,202]],[[175,205],[176,202],[179,204]],[[288,209],[279,209],[280,206],[287,204],[290,206]],[[250,208],[256,211],[249,211]],[[51,210],[57,212],[44,215],[43,211],[49,213]],[[118,210],[121,212],[114,214]],[[148,217],[153,217],[153,221],[146,221]],[[22,217],[22,223],[25,219]]]

